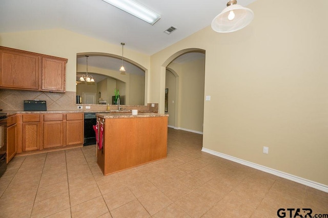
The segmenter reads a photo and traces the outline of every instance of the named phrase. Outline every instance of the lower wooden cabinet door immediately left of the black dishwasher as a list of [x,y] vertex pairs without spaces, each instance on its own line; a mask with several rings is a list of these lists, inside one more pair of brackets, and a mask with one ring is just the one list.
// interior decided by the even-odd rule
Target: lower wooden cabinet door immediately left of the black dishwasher
[[83,144],[83,120],[68,120],[66,122],[66,144]]

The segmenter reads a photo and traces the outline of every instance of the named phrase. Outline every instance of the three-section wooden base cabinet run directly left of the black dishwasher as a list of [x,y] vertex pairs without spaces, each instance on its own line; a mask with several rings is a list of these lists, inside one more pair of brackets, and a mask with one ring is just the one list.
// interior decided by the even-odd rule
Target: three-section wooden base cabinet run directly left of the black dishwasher
[[17,153],[83,146],[83,113],[35,113],[17,117]]

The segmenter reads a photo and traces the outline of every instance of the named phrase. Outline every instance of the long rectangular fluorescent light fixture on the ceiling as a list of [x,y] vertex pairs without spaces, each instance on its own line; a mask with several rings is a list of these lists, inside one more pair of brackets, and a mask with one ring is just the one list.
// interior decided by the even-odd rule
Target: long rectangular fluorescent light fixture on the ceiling
[[160,15],[146,8],[138,2],[132,0],[103,0],[104,2],[115,6],[129,14],[136,16],[147,23],[154,25],[159,19]]

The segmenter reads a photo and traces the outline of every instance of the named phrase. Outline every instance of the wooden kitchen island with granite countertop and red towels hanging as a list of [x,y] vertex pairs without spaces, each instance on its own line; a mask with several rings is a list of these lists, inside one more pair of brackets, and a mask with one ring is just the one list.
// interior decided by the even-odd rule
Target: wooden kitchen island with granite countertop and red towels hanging
[[166,158],[168,115],[98,113],[96,116],[97,164],[105,176]]

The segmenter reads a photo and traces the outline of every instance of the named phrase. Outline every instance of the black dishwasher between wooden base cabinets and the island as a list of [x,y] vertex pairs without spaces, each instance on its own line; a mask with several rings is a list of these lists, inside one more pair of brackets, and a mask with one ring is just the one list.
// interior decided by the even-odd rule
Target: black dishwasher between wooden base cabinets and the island
[[96,144],[96,133],[93,125],[96,125],[97,117],[95,113],[84,113],[84,143],[83,145]]

